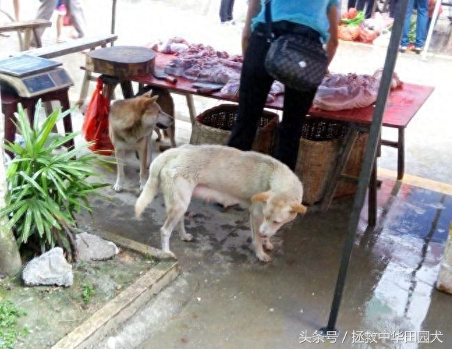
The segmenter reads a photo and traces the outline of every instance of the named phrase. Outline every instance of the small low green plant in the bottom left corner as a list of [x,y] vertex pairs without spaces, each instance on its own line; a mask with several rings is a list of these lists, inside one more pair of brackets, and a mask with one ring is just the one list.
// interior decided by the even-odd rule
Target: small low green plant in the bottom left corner
[[0,301],[0,349],[14,348],[17,337],[29,333],[26,327],[17,329],[17,319],[24,315],[10,300]]

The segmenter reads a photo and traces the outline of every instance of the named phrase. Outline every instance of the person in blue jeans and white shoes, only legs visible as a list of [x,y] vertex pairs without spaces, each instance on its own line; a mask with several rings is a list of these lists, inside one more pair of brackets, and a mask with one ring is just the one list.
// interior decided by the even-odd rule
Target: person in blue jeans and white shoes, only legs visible
[[428,22],[428,0],[408,0],[407,13],[405,15],[405,22],[403,24],[403,35],[400,40],[400,52],[407,50],[410,42],[408,40],[408,33],[410,33],[411,16],[413,9],[416,8],[416,40],[414,42],[414,52],[420,54],[423,48],[423,42],[426,38],[427,22]]

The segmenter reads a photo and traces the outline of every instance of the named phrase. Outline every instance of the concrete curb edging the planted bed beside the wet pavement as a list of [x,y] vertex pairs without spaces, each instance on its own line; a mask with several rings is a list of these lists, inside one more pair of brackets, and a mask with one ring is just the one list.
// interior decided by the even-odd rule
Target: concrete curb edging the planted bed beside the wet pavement
[[[155,256],[157,249],[110,233],[96,233],[116,244]],[[154,251],[155,250],[155,251]],[[152,252],[155,252],[153,254]],[[177,261],[161,261],[132,285],[96,311],[79,327],[59,340],[51,349],[93,348],[119,325],[125,323],[143,304],[178,277]]]

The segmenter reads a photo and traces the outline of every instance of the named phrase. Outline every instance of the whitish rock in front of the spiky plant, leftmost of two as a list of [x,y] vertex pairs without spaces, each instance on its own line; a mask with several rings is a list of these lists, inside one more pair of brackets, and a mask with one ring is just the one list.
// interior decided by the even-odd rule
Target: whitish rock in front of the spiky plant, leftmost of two
[[63,249],[54,247],[29,261],[22,272],[22,279],[26,286],[71,286],[74,274],[72,274],[72,265],[64,258]]

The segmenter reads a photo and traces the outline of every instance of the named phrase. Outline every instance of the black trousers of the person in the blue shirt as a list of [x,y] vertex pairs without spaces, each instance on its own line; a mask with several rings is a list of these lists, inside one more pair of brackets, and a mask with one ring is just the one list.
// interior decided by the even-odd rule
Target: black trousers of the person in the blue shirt
[[[282,21],[273,24],[276,37],[283,33],[297,30],[297,24]],[[289,24],[289,25],[287,25]],[[306,26],[300,35],[306,35],[321,45],[319,34]],[[247,52],[244,56],[242,74],[240,75],[239,105],[237,121],[233,126],[228,146],[240,150],[251,150],[256,136],[258,121],[262,116],[265,101],[274,79],[265,70],[264,61],[270,43],[267,42],[265,25],[258,25],[251,33]],[[278,144],[274,157],[290,169],[295,170],[297,164],[299,138],[302,134],[304,118],[311,107],[317,88],[300,92],[286,86],[284,93],[283,118],[278,126]]]

